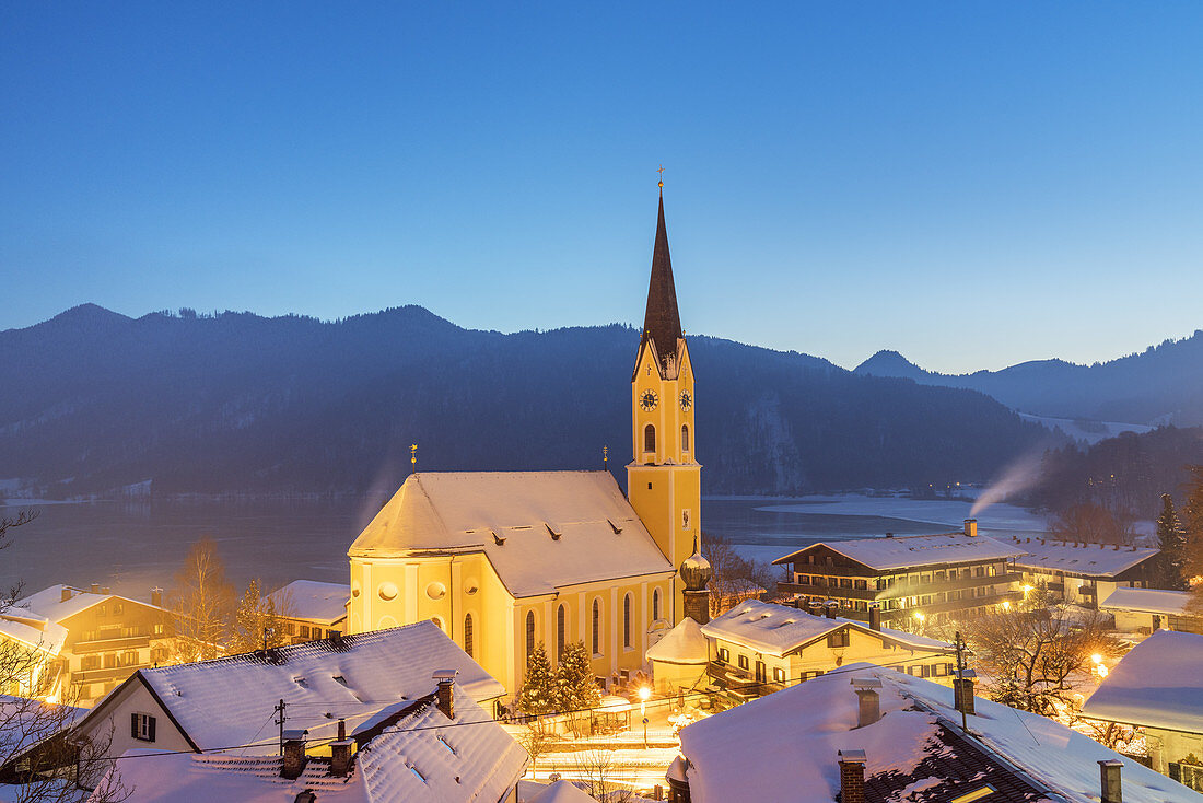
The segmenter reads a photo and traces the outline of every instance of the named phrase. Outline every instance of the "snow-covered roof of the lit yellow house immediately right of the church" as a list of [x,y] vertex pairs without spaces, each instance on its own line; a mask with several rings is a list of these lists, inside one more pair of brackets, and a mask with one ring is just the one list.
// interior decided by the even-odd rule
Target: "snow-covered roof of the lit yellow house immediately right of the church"
[[[782,656],[843,626],[879,634],[888,640],[925,650],[952,650],[953,645],[926,636],[883,627],[879,632],[852,619],[828,619],[759,600],[746,600],[701,626],[710,638],[731,642],[768,655]],[[648,651],[650,653],[650,651]]]

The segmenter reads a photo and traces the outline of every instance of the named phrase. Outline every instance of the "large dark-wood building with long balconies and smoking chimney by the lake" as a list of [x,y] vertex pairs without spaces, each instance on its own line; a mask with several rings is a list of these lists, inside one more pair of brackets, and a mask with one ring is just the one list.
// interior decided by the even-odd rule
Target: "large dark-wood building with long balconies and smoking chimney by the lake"
[[804,604],[840,603],[838,615],[869,621],[870,604],[882,621],[921,628],[928,621],[1006,607],[1023,598],[1019,575],[1008,566],[1023,550],[979,536],[977,521],[937,536],[852,538],[811,544],[774,561],[792,567],[793,580],[777,590]]

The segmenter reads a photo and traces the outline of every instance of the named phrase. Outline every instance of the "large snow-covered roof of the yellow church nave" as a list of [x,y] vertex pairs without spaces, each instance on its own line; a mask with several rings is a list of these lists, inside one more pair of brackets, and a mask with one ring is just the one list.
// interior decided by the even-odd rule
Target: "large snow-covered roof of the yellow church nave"
[[516,597],[672,572],[610,472],[411,474],[351,557],[485,553]]

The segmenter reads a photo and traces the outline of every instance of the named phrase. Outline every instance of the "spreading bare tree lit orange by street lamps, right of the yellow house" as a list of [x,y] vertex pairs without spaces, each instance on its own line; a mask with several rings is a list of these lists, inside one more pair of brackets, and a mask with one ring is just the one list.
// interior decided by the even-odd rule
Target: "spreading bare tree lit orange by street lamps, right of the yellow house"
[[990,697],[1013,708],[1053,715],[1069,704],[1091,656],[1122,655],[1107,619],[1073,619],[1069,608],[995,610],[961,622]]

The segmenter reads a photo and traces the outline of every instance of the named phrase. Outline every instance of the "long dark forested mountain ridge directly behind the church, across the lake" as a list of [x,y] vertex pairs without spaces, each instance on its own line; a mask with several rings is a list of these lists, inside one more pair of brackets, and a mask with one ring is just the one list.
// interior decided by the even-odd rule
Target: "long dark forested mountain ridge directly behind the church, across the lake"
[[[638,343],[624,325],[499,333],[416,306],[322,321],[84,305],[0,332],[0,490],[386,494],[411,444],[420,470],[605,465],[623,482]],[[979,389],[689,348],[707,494],[943,488],[1057,442]]]

